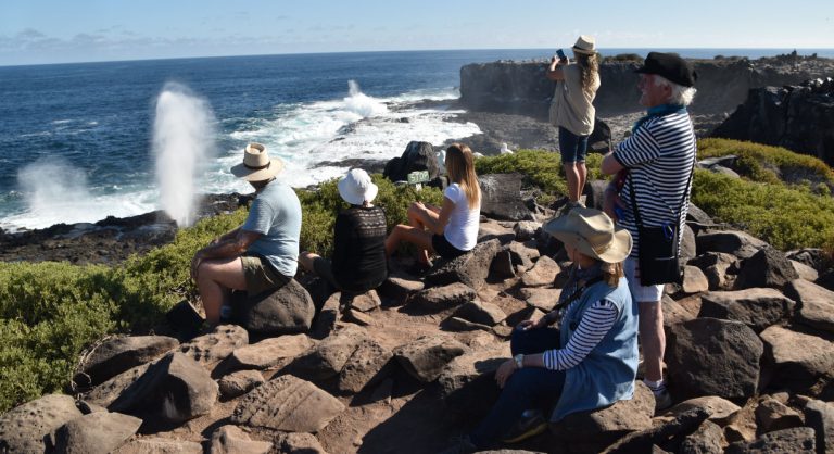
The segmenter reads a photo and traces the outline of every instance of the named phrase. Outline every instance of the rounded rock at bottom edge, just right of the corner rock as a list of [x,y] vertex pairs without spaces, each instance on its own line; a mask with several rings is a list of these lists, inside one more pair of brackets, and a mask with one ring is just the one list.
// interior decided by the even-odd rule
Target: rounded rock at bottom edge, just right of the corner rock
[[75,418],[55,433],[55,452],[106,454],[134,436],[142,420],[121,413],[91,413]]

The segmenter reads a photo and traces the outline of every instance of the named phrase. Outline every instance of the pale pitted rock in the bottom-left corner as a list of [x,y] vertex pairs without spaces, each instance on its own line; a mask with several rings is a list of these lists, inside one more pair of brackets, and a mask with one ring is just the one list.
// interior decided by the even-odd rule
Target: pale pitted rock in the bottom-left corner
[[80,416],[68,395],[48,394],[26,402],[0,415],[0,451],[43,453],[43,438]]

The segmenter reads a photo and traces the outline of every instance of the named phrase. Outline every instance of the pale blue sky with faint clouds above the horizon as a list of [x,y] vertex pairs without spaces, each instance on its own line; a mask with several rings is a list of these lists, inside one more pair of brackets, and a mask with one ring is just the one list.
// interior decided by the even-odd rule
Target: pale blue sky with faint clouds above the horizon
[[831,0],[0,0],[0,65],[420,49],[834,48]]

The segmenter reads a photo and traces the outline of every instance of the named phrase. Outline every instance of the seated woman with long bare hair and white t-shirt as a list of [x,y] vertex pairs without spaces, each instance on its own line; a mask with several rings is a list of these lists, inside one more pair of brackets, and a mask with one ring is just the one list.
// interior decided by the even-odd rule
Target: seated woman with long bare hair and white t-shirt
[[455,258],[475,248],[481,217],[481,188],[475,174],[472,151],[462,143],[446,149],[445,166],[450,185],[443,191],[443,206],[414,202],[408,207],[408,225],[399,224],[386,240],[388,256],[401,241],[419,249],[417,260],[429,265],[429,254]]

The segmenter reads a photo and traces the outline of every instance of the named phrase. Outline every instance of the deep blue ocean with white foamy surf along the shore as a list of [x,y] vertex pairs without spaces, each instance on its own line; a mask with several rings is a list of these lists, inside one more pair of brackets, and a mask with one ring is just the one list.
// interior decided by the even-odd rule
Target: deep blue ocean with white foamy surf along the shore
[[[791,50],[677,51],[758,58]],[[627,52],[647,50],[602,51]],[[834,58],[831,49],[800,50],[813,52]],[[0,228],[137,215],[163,207],[166,192],[249,192],[228,168],[252,141],[286,162],[286,181],[303,187],[342,175],[346,168],[334,163],[343,160],[388,160],[412,140],[465,139],[480,129],[448,122],[459,113],[453,102],[460,66],[551,53],[363,52],[0,67]],[[168,98],[161,97],[165,92]],[[192,188],[172,186],[172,179]]]

